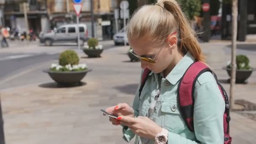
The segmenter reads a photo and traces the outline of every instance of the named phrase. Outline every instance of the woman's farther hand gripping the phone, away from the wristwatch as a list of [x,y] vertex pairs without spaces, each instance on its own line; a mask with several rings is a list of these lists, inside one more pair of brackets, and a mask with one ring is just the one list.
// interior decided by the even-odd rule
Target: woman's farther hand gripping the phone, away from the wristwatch
[[[126,103],[121,103],[117,104],[117,106],[109,107],[105,111],[112,115],[134,117],[133,108]],[[112,122],[113,125],[120,125],[120,121],[115,118],[109,117],[109,121]]]

